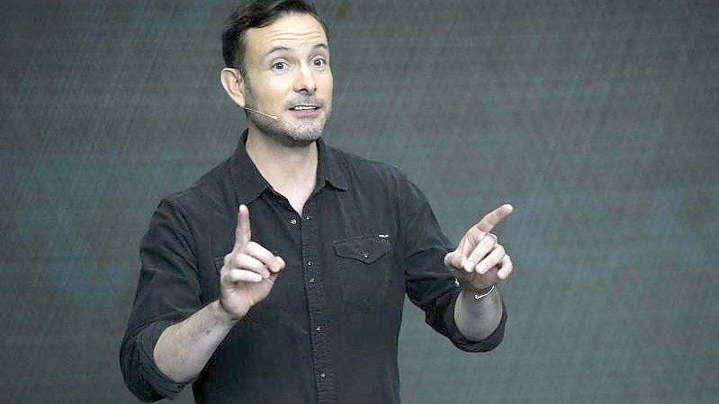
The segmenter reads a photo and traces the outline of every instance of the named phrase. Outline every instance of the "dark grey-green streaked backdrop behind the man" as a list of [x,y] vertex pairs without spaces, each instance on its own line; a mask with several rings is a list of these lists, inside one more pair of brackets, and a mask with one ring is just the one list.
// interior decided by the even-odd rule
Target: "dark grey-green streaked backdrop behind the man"
[[[139,238],[245,125],[218,83],[231,4],[0,5],[3,402],[134,402],[117,352]],[[504,343],[464,354],[408,306],[405,402],[716,402],[717,2],[319,10],[328,142],[402,168],[454,240],[516,208]]]

